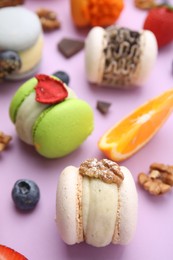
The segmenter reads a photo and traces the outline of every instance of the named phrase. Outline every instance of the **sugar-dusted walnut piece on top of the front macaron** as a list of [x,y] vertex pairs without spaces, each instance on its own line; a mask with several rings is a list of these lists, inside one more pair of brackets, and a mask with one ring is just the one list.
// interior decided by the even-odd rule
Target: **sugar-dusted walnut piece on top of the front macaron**
[[90,178],[100,179],[106,183],[121,185],[124,176],[117,163],[107,159],[98,161],[96,158],[89,159],[80,165],[79,173]]

